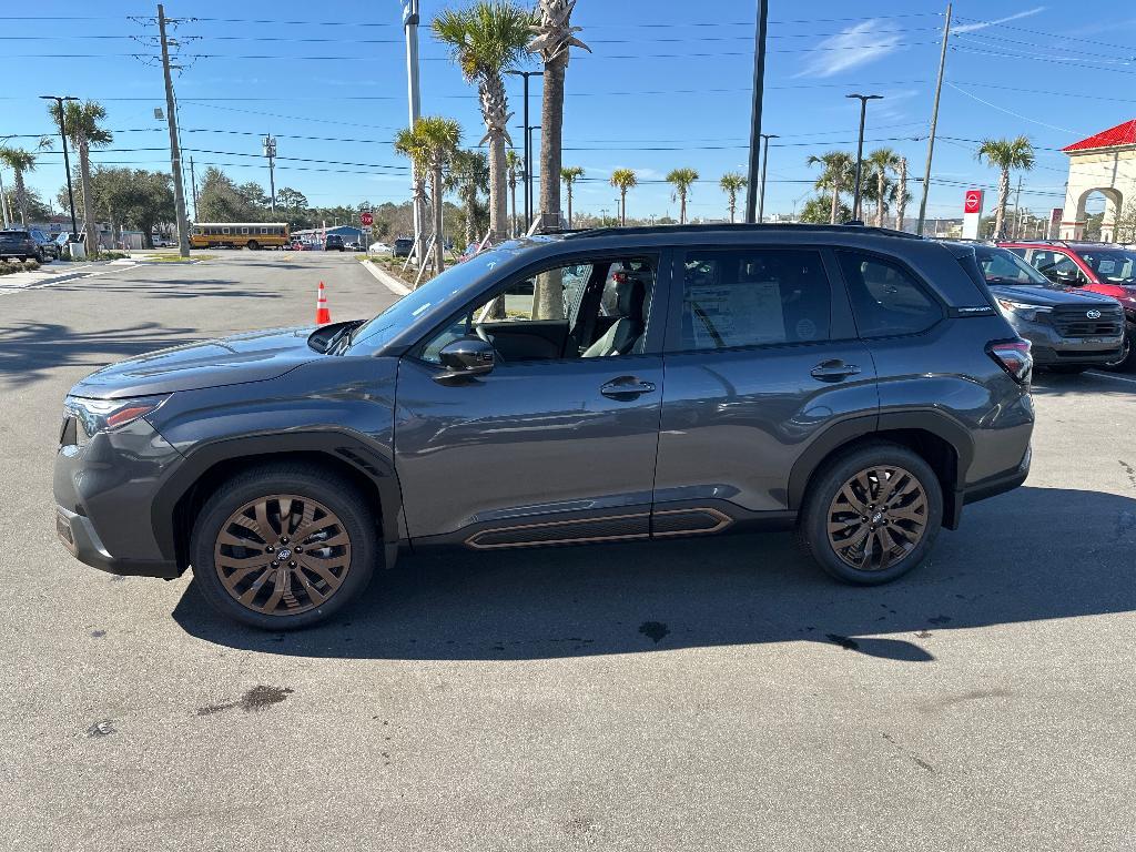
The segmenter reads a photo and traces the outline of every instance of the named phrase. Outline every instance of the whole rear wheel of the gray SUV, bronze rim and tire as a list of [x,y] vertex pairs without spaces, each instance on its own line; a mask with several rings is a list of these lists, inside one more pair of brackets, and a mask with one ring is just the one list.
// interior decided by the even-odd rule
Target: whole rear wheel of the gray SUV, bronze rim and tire
[[877,585],[927,557],[943,521],[943,490],[920,456],[888,442],[828,461],[797,520],[804,552],[847,583]]

